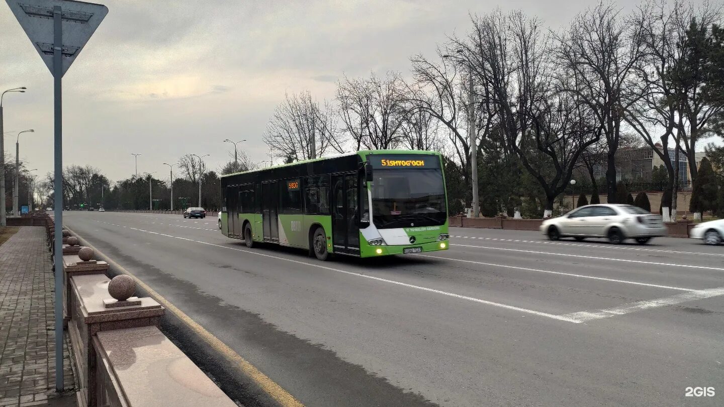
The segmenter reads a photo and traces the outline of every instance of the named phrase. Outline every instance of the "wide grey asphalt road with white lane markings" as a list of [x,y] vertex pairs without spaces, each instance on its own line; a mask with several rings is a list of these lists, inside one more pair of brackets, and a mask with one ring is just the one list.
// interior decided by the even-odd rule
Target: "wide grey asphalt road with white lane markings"
[[724,246],[452,228],[322,263],[215,217],[64,219],[306,406],[724,405]]

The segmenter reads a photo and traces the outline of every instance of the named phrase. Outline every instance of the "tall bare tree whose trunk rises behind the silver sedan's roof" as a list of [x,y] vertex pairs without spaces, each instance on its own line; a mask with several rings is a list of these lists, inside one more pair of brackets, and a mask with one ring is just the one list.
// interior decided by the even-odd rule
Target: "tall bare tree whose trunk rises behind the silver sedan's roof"
[[606,183],[608,201],[616,198],[616,151],[623,113],[636,103],[633,70],[643,54],[639,27],[603,2],[578,14],[571,28],[556,34],[557,60],[572,75],[564,88],[589,106],[603,130],[608,146]]

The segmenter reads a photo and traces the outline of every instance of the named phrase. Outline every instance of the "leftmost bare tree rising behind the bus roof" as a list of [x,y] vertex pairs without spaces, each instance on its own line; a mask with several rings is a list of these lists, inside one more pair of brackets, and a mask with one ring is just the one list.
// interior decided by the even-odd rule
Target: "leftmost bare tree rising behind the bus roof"
[[329,102],[319,106],[309,91],[287,93],[269,120],[264,143],[279,157],[310,159],[329,151],[343,153],[345,140],[338,134],[335,120]]

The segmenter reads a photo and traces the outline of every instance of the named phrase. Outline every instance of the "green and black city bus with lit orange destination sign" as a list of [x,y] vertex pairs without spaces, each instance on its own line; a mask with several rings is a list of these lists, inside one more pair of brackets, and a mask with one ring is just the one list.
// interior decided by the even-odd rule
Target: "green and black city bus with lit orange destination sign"
[[224,175],[229,238],[373,257],[446,250],[447,196],[435,151],[374,150]]

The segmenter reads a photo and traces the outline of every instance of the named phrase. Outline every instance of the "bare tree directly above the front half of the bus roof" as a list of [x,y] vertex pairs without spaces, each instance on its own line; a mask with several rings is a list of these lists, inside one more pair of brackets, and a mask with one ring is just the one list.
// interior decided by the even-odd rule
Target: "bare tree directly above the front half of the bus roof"
[[397,72],[380,79],[345,76],[337,83],[337,101],[345,131],[355,148],[395,148],[405,121],[405,83]]

